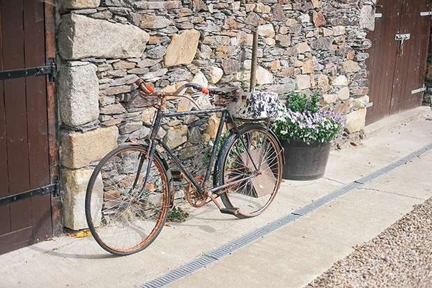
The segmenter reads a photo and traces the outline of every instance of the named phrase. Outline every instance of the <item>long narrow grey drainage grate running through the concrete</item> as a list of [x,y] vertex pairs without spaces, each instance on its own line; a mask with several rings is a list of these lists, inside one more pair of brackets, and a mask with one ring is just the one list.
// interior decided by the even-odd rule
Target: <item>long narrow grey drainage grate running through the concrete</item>
[[240,236],[239,238],[236,238],[235,240],[226,243],[225,245],[222,245],[221,247],[213,251],[210,251],[201,257],[192,260],[192,262],[189,262],[178,268],[175,268],[172,271],[169,271],[168,273],[160,276],[159,278],[155,278],[142,285],[139,285],[138,287],[155,288],[155,287],[166,287],[168,285],[171,285],[173,282],[176,282],[181,278],[185,278],[186,276],[191,275],[192,273],[199,271],[202,268],[206,268],[207,266],[215,262],[218,262],[224,257],[231,255],[231,253],[236,252],[240,248],[243,248],[246,245],[249,245],[250,243],[256,240],[263,238],[264,236],[272,232],[275,232],[277,229],[281,229],[282,227],[288,225],[289,223],[298,220],[304,215],[307,215],[315,211],[316,209],[321,208],[322,206],[332,202],[334,199],[337,199],[348,192],[356,190],[366,185],[367,183],[370,183],[371,181],[378,179],[380,176],[383,176],[391,172],[392,170],[401,167],[402,165],[405,165],[407,162],[410,162],[415,158],[422,156],[424,153],[430,150],[432,150],[432,143],[410,153],[406,157],[396,160],[395,162],[392,162],[391,164],[376,170],[375,172],[372,172],[367,176],[357,179],[349,183],[348,185],[345,185],[344,187],[339,188],[338,190],[335,190],[328,195],[325,195],[324,197],[321,197],[320,199],[316,200],[311,204],[303,206],[302,208],[288,215],[285,215],[284,217],[279,218],[278,220],[275,220],[269,223],[268,225],[260,227],[254,230],[253,232]]

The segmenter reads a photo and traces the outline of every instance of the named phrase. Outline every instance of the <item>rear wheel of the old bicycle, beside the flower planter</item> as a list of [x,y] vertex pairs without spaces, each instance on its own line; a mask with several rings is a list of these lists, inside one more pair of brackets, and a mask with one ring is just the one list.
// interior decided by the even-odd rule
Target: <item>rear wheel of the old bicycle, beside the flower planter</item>
[[238,181],[254,174],[256,169],[240,139],[247,144],[254,162],[259,162],[263,156],[260,174],[229,186],[221,194],[222,202],[227,209],[238,210],[239,213],[235,214],[238,218],[250,218],[261,214],[275,199],[279,190],[282,152],[271,130],[262,149],[264,135],[265,126],[259,123],[247,123],[239,128],[239,133],[234,132],[226,139],[219,152],[215,176],[217,185]]

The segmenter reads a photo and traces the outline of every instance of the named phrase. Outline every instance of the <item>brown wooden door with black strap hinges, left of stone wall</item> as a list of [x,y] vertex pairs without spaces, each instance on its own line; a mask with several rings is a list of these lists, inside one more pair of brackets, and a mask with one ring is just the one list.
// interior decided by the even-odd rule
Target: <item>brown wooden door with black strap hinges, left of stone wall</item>
[[[2,71],[45,65],[54,31],[52,21],[46,29],[47,16],[52,7],[44,1],[0,1]],[[52,183],[52,91],[46,75],[0,80],[0,199]],[[52,204],[47,194],[1,205],[0,254],[51,237]]]

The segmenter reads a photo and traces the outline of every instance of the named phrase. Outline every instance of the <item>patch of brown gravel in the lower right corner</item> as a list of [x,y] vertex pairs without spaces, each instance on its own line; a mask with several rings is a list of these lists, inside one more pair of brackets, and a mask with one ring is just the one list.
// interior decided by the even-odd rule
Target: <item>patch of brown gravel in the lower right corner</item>
[[432,198],[307,287],[432,287]]

